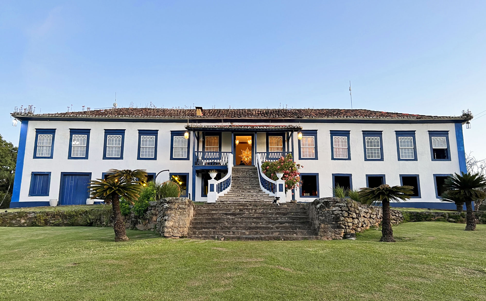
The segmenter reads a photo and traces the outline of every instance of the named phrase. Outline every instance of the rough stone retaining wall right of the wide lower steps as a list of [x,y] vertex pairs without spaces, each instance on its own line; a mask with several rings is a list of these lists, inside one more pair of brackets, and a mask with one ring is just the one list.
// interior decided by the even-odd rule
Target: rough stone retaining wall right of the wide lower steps
[[[391,210],[392,224],[403,221],[398,210]],[[322,239],[343,239],[345,234],[363,232],[382,222],[382,207],[368,206],[350,199],[321,198],[309,204],[309,217]]]

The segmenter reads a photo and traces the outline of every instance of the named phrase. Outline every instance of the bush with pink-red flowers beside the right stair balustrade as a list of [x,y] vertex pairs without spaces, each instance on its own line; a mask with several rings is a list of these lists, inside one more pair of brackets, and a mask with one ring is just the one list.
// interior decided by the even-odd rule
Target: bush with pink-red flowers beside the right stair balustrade
[[261,171],[265,176],[277,181],[277,173],[283,173],[282,180],[285,180],[285,192],[292,190],[299,186],[300,173],[299,169],[302,168],[300,164],[295,163],[292,158],[292,154],[287,154],[284,157],[280,157],[278,161],[266,161],[261,164]]

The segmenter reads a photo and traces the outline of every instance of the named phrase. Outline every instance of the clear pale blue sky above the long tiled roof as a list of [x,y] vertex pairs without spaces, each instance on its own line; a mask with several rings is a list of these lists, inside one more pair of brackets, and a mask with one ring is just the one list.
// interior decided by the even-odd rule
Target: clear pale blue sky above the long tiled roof
[[[14,106],[486,110],[486,1],[0,2],[0,134]],[[486,113],[486,112],[485,112]],[[480,115],[477,115],[478,117]],[[486,117],[464,130],[486,158]]]

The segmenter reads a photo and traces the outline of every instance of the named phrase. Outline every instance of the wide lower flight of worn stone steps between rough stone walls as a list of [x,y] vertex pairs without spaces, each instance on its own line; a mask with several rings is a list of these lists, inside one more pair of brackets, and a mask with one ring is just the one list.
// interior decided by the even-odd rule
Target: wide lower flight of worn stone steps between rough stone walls
[[309,204],[231,202],[196,205],[188,237],[218,240],[320,239],[312,229]]

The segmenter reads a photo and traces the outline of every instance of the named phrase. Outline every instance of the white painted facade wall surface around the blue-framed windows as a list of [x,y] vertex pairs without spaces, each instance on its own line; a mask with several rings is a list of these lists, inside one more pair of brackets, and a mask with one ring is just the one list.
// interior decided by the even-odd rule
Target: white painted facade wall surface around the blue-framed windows
[[[208,125],[210,123],[201,123]],[[221,123],[218,123],[221,124]],[[239,122],[238,124],[254,124]],[[259,122],[259,124],[264,124]],[[288,125],[289,123],[274,123]],[[171,131],[183,131],[186,123],[162,122],[95,122],[95,121],[29,121],[20,201],[49,201],[58,199],[61,172],[92,172],[92,178],[101,178],[110,168],[147,169],[158,172],[170,169],[174,173],[190,173],[188,191],[192,194],[192,136],[189,152],[190,160],[170,160]],[[320,197],[332,195],[332,174],[352,174],[353,188],[366,186],[366,174],[385,174],[386,183],[399,185],[399,174],[419,174],[421,199],[411,201],[435,202],[433,174],[459,172],[458,152],[453,123],[430,124],[363,124],[363,123],[301,123],[304,130],[317,130],[319,160],[298,160],[297,135],[294,134],[295,161],[304,167],[301,172],[319,173]],[[56,129],[53,159],[33,159],[35,129]],[[69,160],[69,129],[91,129],[88,160]],[[104,130],[125,129],[123,160],[103,160]],[[158,130],[157,160],[137,160],[138,130]],[[330,130],[350,131],[350,161],[331,160]],[[418,161],[398,161],[395,131],[416,131]],[[449,131],[451,161],[432,161],[428,131]],[[362,131],[383,131],[384,161],[364,161]],[[202,135],[201,135],[202,137]],[[199,150],[202,151],[202,139]],[[231,151],[231,133],[222,135],[222,151]],[[258,133],[258,151],[266,151],[264,133]],[[51,187],[48,197],[29,197],[31,172],[51,171]],[[162,173],[157,181],[167,180],[168,173]],[[196,201],[201,198],[201,178],[196,177]],[[290,199],[290,196],[288,196]],[[312,198],[299,198],[298,201],[312,201]]]

